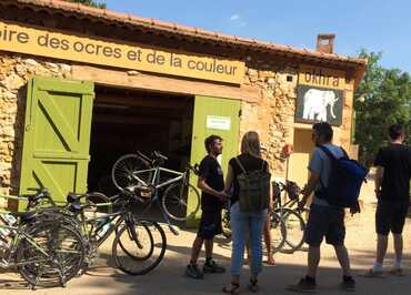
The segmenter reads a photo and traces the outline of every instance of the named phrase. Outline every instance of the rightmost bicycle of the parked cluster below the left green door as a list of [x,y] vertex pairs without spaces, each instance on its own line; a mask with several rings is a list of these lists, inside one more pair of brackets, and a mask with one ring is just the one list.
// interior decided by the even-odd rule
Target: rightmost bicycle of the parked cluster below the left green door
[[[116,233],[111,247],[112,257],[122,272],[144,275],[160,264],[167,248],[164,231],[157,222],[134,216],[131,212],[134,199],[134,194],[127,191],[111,199],[100,193],[68,195],[67,207],[78,216],[87,240],[83,272],[92,265],[98,248],[112,233]],[[118,206],[119,210],[112,212],[113,206]],[[160,235],[160,241],[154,241],[153,233]]]

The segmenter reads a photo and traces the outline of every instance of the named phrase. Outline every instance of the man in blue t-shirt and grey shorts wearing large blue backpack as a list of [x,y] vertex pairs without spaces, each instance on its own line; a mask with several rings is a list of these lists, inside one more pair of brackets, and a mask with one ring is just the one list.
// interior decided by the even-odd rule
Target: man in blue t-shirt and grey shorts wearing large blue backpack
[[[341,171],[339,160],[343,159],[349,165],[352,160],[348,159],[347,153],[339,146],[332,144],[333,131],[329,123],[315,123],[312,128],[312,141],[315,149],[309,163],[310,177],[308,184],[302,191],[303,197],[300,206],[303,207],[309,196],[314,192],[311,204],[310,215],[304,231],[304,241],[309,244],[308,253],[308,269],[305,277],[301,278],[297,285],[288,287],[294,292],[315,292],[317,269],[320,263],[320,246],[323,237],[325,242],[331,244],[337,254],[337,258],[342,268],[341,288],[344,291],[354,291],[355,282],[351,276],[350,260],[348,251],[344,246],[345,226],[344,226],[344,206],[341,201],[347,203],[345,197],[333,196],[333,186],[341,185],[335,182],[335,179],[343,179],[344,175],[334,176],[335,172]],[[344,164],[344,163],[343,163]],[[367,173],[365,173],[367,174]],[[350,175],[348,175],[350,176]],[[361,185],[361,184],[360,184]],[[347,186],[342,183],[342,187],[337,187],[345,191]],[[359,194],[359,192],[355,192]],[[358,195],[357,195],[358,197]],[[355,200],[352,205],[351,213],[359,211],[358,202]]]

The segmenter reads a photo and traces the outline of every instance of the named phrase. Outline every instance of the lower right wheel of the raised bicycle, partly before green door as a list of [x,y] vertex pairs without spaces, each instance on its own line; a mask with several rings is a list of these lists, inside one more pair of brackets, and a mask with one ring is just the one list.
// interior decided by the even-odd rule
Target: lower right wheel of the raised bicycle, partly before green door
[[[190,196],[190,212],[189,212]],[[170,185],[162,196],[162,208],[171,218],[186,221],[200,208],[200,194],[197,189],[184,182]],[[192,210],[191,210],[192,208]]]

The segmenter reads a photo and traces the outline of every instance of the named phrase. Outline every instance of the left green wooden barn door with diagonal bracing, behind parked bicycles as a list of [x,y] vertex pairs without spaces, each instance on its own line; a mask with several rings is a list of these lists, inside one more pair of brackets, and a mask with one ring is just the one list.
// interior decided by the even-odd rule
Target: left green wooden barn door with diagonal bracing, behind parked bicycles
[[68,192],[87,191],[93,88],[92,82],[30,80],[21,194],[42,185],[56,201],[64,201]]

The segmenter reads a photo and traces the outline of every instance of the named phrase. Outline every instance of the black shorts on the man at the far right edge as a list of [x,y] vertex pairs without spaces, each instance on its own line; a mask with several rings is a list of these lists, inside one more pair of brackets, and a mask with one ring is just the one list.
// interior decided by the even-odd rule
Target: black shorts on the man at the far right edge
[[379,201],[375,212],[375,231],[380,235],[402,234],[409,202]]

